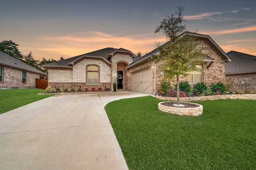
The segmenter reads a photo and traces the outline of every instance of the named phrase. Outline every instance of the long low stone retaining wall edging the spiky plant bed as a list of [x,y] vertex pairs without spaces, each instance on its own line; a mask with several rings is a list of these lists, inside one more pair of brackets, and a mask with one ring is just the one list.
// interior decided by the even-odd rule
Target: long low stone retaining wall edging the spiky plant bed
[[[176,101],[177,98],[169,98],[156,96],[160,100]],[[214,96],[198,96],[198,97],[186,97],[180,98],[180,101],[184,102],[194,102],[194,101],[206,101],[206,100],[226,100],[226,99],[244,99],[244,100],[256,100],[256,94],[224,94],[224,95],[214,95]]]

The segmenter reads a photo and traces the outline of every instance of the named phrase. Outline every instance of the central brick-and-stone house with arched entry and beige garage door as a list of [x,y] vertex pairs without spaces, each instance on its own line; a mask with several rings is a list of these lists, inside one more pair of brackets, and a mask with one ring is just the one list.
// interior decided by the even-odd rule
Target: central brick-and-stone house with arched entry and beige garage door
[[[195,41],[198,48],[208,53],[208,57],[205,63],[198,65],[202,72],[191,72],[183,80],[191,84],[200,81],[209,84],[225,82],[225,62],[231,61],[230,58],[208,35],[194,35],[197,37]],[[152,54],[156,53],[157,49],[137,57],[126,49],[106,48],[46,64],[44,67],[48,68],[48,86],[53,90],[90,90],[90,87],[104,90],[112,88],[112,83],[117,82],[118,90],[158,94],[163,76],[158,64],[154,64],[151,59]]]

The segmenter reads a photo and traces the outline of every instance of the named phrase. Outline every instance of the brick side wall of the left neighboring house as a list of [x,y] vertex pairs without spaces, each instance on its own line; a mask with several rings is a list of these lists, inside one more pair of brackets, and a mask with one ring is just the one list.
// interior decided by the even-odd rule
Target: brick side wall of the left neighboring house
[[1,88],[36,88],[36,78],[40,78],[40,74],[26,71],[26,83],[22,83],[22,71],[17,68],[3,67],[3,82],[0,82]]

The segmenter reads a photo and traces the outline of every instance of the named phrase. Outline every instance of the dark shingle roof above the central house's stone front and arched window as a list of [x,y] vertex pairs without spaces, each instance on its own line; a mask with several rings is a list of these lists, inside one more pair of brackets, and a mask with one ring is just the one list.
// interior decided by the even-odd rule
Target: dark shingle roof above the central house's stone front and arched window
[[114,48],[109,48],[108,47],[108,48],[105,48],[105,49],[100,49],[100,50],[97,50],[97,51],[92,51],[90,53],[85,53],[85,54],[82,54],[82,55],[78,55],[76,57],[72,57],[72,58],[69,58],[69,59],[57,61],[57,62],[50,63],[50,64],[45,64],[43,66],[45,66],[45,67],[47,67],[47,66],[70,66],[69,63],[71,63],[72,61],[78,59],[79,57],[82,57],[83,55],[92,56],[92,57],[103,57],[103,58],[107,59],[108,61],[110,61],[108,59],[109,54],[113,53],[116,50],[118,50],[118,51],[127,51],[129,53],[132,53],[131,51],[123,49],[123,48],[114,49]]

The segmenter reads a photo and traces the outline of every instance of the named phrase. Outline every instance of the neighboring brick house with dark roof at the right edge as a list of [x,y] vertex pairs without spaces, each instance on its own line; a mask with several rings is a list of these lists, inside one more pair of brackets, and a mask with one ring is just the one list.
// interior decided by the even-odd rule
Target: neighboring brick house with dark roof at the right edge
[[232,62],[225,64],[226,81],[233,82],[231,90],[256,92],[256,56],[236,51],[230,51],[227,55],[232,59]]

